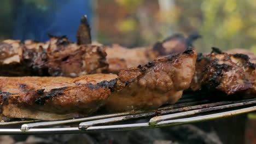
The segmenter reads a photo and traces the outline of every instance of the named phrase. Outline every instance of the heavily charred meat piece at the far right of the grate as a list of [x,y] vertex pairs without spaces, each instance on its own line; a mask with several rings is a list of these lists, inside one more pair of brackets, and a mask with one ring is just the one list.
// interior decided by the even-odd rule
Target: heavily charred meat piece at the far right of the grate
[[255,93],[255,67],[241,53],[228,54],[212,48],[208,55],[199,54],[191,89],[220,91],[227,95]]

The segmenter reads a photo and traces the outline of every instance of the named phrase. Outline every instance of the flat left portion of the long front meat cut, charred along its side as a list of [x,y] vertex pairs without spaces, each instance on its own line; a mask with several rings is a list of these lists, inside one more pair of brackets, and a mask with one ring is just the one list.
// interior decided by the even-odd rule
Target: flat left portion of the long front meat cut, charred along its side
[[87,116],[101,107],[110,89],[79,85],[100,82],[116,75],[68,77],[0,77],[2,114],[11,118],[63,119]]

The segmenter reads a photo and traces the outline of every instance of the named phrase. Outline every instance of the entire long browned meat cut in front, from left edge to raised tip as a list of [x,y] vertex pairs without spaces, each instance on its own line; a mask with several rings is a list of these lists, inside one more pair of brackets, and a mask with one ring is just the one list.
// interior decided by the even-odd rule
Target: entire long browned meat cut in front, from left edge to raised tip
[[0,77],[2,117],[44,120],[108,112],[156,109],[176,103],[190,86],[196,52],[156,59],[118,75]]

